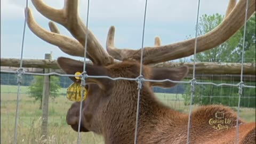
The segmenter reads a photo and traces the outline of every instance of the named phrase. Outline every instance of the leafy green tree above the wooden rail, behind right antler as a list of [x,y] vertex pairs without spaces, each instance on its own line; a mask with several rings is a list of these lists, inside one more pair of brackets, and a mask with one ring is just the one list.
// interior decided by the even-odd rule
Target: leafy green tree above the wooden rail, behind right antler
[[[224,16],[218,13],[203,14],[198,22],[198,35],[204,35],[217,27]],[[204,62],[241,62],[243,48],[244,27],[239,29],[228,41],[211,50],[198,53],[197,61]],[[255,13],[246,23],[244,62],[255,62]],[[192,59],[193,60],[193,59]]]

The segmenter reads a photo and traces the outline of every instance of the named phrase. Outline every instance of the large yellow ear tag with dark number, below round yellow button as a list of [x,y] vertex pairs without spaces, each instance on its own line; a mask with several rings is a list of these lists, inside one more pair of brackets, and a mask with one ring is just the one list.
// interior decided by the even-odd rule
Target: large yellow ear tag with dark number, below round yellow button
[[83,100],[85,100],[86,96],[87,96],[87,91],[86,91],[85,87],[82,87],[82,85],[79,83],[73,83],[73,84],[69,85],[69,87],[67,89],[67,98],[71,101],[81,101],[82,89],[84,91]]

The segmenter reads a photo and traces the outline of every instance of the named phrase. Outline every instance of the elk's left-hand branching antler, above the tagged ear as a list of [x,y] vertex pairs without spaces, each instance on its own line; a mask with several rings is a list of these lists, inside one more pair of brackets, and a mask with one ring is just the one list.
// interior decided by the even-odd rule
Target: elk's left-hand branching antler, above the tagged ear
[[[87,58],[91,59],[95,65],[109,65],[114,59],[103,49],[98,40],[94,37],[90,30],[87,30],[77,13],[78,0],[66,0],[63,9],[57,10],[47,6],[42,0],[31,0],[37,11],[46,18],[60,23],[67,28],[75,39],[71,39],[59,34],[58,28],[53,24],[49,24],[50,31],[47,31],[37,25],[28,9],[27,23],[31,31],[44,41],[59,46],[63,52],[78,57],[84,57],[85,35],[87,31]],[[57,31],[56,31],[57,30]]]

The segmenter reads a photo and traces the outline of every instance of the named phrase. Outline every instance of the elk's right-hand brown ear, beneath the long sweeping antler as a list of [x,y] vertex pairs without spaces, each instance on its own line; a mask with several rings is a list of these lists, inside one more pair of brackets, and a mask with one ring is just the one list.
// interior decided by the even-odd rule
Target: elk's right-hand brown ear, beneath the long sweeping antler
[[[180,81],[182,78],[187,76],[188,67],[183,66],[180,68],[152,68],[152,77],[154,80],[164,80],[170,79],[172,81]],[[150,82],[150,86],[159,86],[159,87],[172,87],[177,83],[173,82]]]

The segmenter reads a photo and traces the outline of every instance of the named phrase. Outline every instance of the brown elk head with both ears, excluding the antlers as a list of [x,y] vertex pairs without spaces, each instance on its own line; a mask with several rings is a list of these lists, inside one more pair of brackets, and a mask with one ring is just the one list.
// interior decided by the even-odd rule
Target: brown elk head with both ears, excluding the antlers
[[[58,58],[59,66],[68,74],[83,70],[83,62],[68,58]],[[181,68],[151,68],[143,66],[143,77],[146,79],[172,79],[180,81],[188,73],[187,67]],[[86,73],[90,76],[137,78],[140,74],[140,63],[137,61],[123,61],[108,66],[86,65]],[[76,82],[75,78],[73,79]],[[118,125],[117,122],[132,119],[135,124],[137,106],[137,82],[127,80],[111,81],[108,78],[86,78],[88,84],[87,97],[83,102],[82,127],[102,133],[104,125]],[[145,82],[142,85],[141,101],[150,102],[154,107],[155,98],[151,86],[171,87],[175,83]],[[79,118],[79,102],[73,103],[67,114],[67,123],[77,131]],[[141,113],[149,110],[147,103],[141,103]],[[151,108],[150,108],[151,109]],[[111,120],[110,120],[111,119]]]

